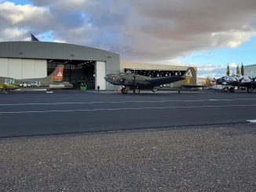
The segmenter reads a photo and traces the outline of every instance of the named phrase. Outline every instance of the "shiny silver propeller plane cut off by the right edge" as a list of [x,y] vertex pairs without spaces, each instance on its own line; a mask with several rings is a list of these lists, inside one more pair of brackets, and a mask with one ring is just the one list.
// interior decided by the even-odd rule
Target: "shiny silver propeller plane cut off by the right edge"
[[253,90],[256,89],[256,77],[251,78],[248,76],[233,74],[214,80],[217,85],[212,87],[212,89],[221,89],[229,92],[235,92],[235,90],[239,89],[247,90],[247,92],[253,92]]

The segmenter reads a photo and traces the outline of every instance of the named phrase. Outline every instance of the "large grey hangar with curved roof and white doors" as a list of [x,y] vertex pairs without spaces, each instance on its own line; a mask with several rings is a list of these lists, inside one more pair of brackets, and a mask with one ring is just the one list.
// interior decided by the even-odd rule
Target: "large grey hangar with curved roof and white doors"
[[119,54],[57,42],[0,42],[0,76],[43,78],[64,64],[64,81],[109,89],[104,75],[120,71]]

